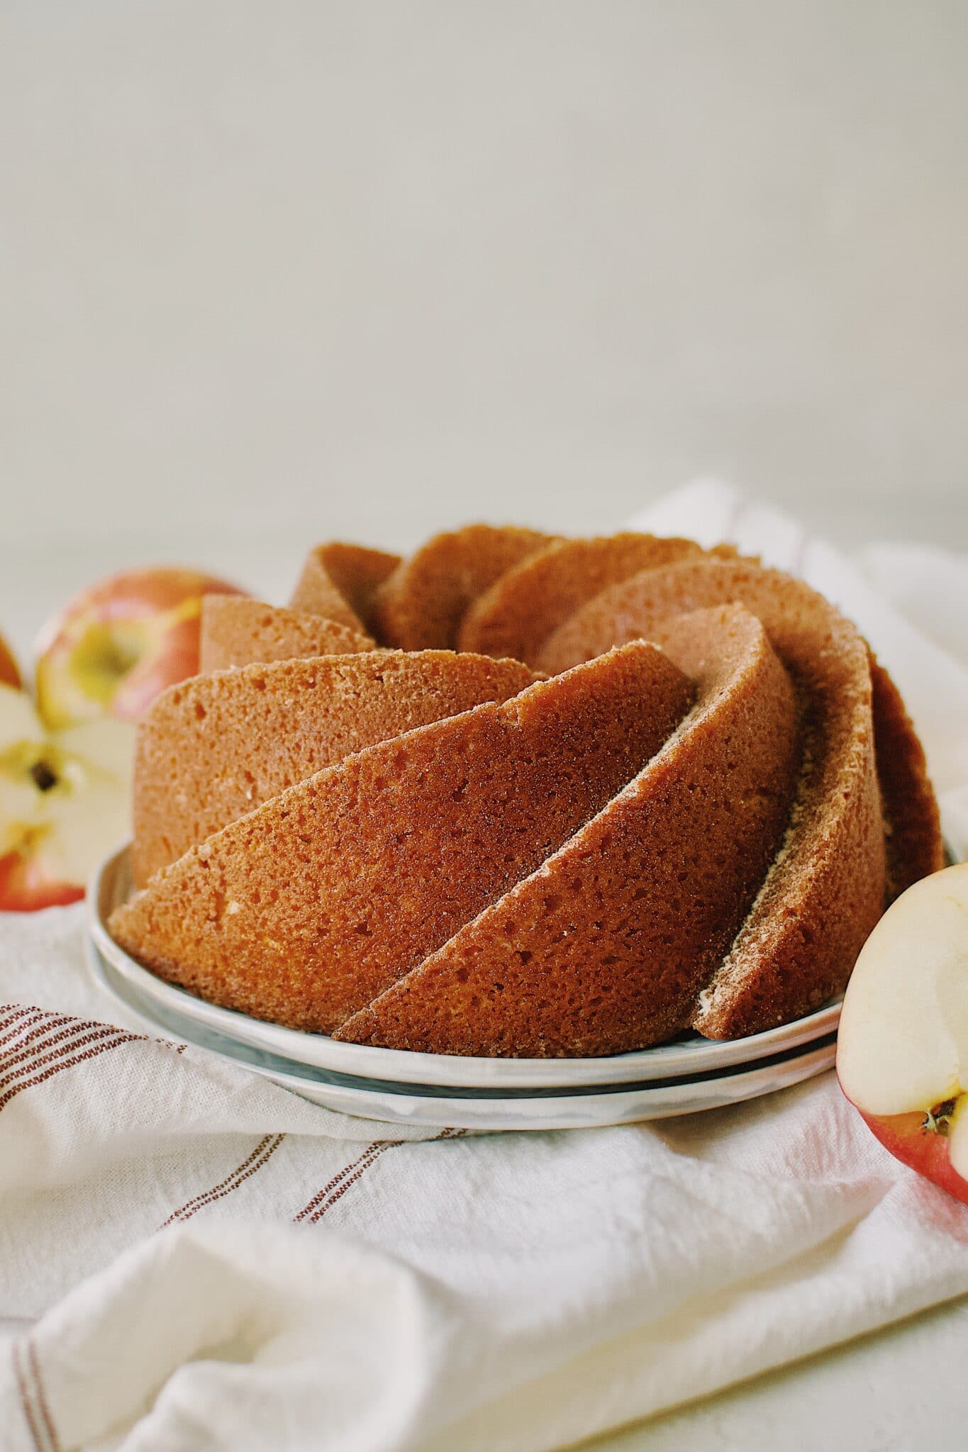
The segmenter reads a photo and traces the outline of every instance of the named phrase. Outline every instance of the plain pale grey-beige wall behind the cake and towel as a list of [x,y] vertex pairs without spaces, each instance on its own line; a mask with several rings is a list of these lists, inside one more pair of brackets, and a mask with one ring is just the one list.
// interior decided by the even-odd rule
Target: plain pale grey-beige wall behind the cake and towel
[[964,0],[3,0],[0,624],[711,470],[964,547],[967,77]]

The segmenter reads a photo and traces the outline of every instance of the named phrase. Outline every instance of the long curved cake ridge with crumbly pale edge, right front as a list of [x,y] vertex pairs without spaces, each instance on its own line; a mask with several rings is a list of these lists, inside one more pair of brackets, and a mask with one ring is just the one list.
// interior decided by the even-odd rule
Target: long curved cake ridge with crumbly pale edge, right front
[[546,645],[546,668],[602,642],[655,637],[682,605],[737,600],[789,671],[805,738],[795,822],[694,1018],[711,1038],[784,1024],[842,992],[884,910],[885,858],[871,672],[858,630],[781,571],[700,560],[652,571],[592,601]]

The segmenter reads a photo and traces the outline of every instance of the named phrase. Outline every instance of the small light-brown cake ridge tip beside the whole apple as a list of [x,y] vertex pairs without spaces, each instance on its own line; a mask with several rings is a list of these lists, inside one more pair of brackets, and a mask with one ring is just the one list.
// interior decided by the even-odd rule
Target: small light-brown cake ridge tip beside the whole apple
[[292,661],[313,655],[354,655],[373,650],[363,630],[300,610],[283,610],[238,595],[202,598],[199,668],[202,675],[234,665]]

